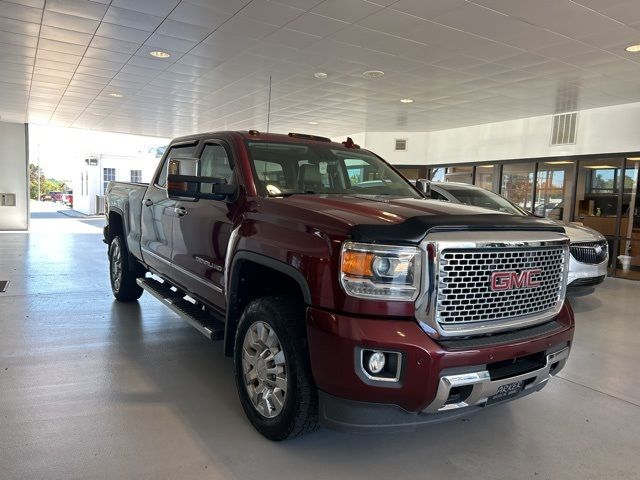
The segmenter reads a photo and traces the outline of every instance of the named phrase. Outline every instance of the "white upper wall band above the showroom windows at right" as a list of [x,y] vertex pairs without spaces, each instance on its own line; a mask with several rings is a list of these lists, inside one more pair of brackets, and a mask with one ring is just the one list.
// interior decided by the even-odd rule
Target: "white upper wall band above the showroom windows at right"
[[[363,132],[360,146],[394,164],[433,165],[640,151],[640,103],[582,110],[575,145],[551,146],[550,115],[436,132]],[[395,139],[407,151],[396,152]]]

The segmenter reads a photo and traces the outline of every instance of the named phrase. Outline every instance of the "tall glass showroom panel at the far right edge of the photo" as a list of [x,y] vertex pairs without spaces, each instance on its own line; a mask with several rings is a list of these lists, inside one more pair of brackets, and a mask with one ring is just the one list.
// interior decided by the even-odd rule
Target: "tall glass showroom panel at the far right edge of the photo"
[[616,275],[640,280],[640,157],[627,158]]

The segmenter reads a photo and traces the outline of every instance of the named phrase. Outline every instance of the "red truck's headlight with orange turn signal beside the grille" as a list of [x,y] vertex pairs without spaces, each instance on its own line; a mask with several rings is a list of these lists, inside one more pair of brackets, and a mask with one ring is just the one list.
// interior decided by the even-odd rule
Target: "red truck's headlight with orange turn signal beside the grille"
[[417,247],[345,242],[340,283],[347,294],[380,300],[415,300],[420,290]]

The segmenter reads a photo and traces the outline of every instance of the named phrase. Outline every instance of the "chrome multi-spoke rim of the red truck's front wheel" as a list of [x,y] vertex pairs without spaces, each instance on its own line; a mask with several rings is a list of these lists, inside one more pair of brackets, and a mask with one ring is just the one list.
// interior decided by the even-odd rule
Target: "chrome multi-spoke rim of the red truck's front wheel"
[[282,412],[287,397],[287,365],[280,340],[266,322],[255,322],[244,334],[242,371],[253,408],[266,418]]

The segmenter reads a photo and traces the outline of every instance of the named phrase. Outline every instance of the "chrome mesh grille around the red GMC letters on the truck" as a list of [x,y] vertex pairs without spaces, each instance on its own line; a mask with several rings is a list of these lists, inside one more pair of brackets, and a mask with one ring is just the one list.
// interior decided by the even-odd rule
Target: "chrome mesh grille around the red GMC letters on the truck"
[[[554,314],[564,300],[566,247],[444,248],[439,252],[435,320],[445,330]],[[536,273],[535,287],[495,291],[496,271]]]

